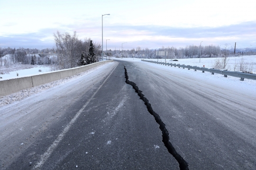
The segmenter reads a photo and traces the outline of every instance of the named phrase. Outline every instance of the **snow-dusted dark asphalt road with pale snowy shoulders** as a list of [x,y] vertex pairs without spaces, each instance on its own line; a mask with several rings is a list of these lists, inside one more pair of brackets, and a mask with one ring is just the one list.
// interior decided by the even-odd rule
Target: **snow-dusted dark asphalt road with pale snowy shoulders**
[[0,108],[1,169],[254,170],[256,97],[246,92],[119,59]]

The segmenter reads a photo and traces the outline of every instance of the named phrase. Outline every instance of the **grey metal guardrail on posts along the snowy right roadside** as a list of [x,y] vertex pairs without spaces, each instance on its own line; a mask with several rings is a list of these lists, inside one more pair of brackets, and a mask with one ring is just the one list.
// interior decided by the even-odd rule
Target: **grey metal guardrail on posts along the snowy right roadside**
[[184,64],[180,65],[180,64],[176,64],[176,63],[148,61],[148,60],[144,60],[144,59],[142,59],[142,61],[155,63],[155,64],[161,64],[161,65],[165,65],[165,66],[171,66],[171,67],[174,66],[174,67],[183,68],[183,69],[188,68],[189,70],[194,69],[195,71],[200,70],[203,73],[205,71],[207,71],[213,75],[214,75],[214,73],[222,74],[222,75],[224,75],[224,77],[228,77],[228,76],[239,77],[239,78],[241,78],[240,79],[241,81],[244,81],[245,78],[256,80],[256,74],[249,74],[249,73],[243,73],[243,72],[238,72],[238,71],[219,70],[219,69],[214,69],[214,68],[197,67],[197,66],[190,66],[190,65],[184,65]]

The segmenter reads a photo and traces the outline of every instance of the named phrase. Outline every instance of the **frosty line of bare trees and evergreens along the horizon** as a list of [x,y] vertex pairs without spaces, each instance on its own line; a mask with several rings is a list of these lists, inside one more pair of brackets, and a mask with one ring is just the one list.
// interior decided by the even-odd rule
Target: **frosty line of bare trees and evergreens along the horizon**
[[[11,64],[52,64],[56,69],[74,68],[86,64],[97,62],[96,56],[101,56],[101,44],[93,43],[91,38],[80,40],[76,32],[73,34],[60,33],[57,31],[53,34],[55,46],[46,49],[25,49],[18,48],[7,49],[0,48],[0,66]],[[109,50],[103,51],[105,56],[126,57],[126,58],[157,58],[156,51],[168,51],[167,59],[183,58],[211,58],[211,57],[229,57],[238,55],[256,55],[256,51],[246,50],[238,51],[226,47],[221,49],[219,45],[188,45],[186,47],[162,47],[159,49],[142,49],[141,47],[131,50]],[[8,58],[3,56],[9,55]],[[165,58],[165,56],[158,56]]]

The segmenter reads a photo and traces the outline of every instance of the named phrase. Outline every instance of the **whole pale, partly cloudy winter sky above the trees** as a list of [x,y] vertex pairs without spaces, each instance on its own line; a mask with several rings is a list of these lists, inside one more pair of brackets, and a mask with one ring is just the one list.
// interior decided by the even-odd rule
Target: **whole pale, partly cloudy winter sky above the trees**
[[51,48],[77,32],[103,48],[256,48],[256,0],[0,0],[0,47]]

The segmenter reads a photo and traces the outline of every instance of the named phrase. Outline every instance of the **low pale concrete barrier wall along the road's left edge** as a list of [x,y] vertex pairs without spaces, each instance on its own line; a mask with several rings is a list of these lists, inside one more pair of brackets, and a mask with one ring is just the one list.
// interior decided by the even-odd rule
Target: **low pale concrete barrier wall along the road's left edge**
[[82,73],[88,69],[100,66],[108,62],[113,62],[113,60],[101,61],[86,66],[81,66],[77,68],[70,68],[65,70],[59,70],[51,73],[14,78],[9,80],[0,81],[0,96],[9,95],[11,93],[16,93],[20,90],[25,90],[37,85],[44,85],[64,77],[73,76],[78,73]]

